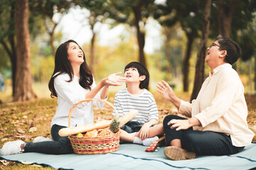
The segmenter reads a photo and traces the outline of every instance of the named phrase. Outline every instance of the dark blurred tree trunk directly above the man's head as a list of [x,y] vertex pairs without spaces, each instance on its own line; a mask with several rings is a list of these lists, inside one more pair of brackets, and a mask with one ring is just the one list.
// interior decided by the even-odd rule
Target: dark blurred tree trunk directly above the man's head
[[[220,35],[225,37],[230,36],[230,28],[235,12],[238,5],[238,0],[231,1],[230,4],[224,4],[226,1],[217,0],[217,15],[218,15],[218,29]],[[227,8],[229,6],[229,8]]]

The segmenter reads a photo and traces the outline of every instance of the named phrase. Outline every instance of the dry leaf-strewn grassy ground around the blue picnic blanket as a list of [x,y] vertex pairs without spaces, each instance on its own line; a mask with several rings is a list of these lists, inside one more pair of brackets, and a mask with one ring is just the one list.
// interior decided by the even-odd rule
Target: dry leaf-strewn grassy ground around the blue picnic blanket
[[[159,93],[153,93],[159,108],[160,122],[169,113],[176,112],[174,106]],[[190,94],[180,93],[178,97],[189,100]],[[248,106],[247,123],[256,125],[256,95],[245,96]],[[114,102],[114,92],[109,94],[108,101]],[[5,142],[23,140],[31,142],[37,136],[50,137],[50,121],[55,115],[57,100],[54,98],[38,98],[34,101],[4,103],[0,105],[0,147]],[[95,121],[111,119],[112,109],[109,106],[94,108]],[[34,131],[30,131],[30,130]],[[0,169],[51,169],[49,166],[27,165],[0,160]]]

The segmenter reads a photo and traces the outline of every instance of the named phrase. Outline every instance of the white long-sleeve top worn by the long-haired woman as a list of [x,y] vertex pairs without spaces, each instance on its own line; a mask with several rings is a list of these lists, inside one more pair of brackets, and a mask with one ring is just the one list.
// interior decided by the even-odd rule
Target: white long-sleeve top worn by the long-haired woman
[[[80,86],[79,77],[74,76],[73,80],[70,82],[68,82],[68,80],[70,80],[70,77],[68,76],[68,74],[65,73],[58,75],[58,77],[55,77],[54,79],[54,88],[58,96],[58,108],[51,121],[51,126],[56,124],[68,127],[68,114],[70,112],[70,108],[73,107],[73,104],[85,100],[86,94],[90,91]],[[95,80],[93,79],[91,89],[94,89],[95,86]],[[100,98],[100,92],[97,93],[95,98]],[[74,108],[72,112],[70,127],[75,127],[75,125],[86,125],[88,123],[93,123],[94,117],[92,103],[98,108],[102,108],[105,104],[101,101],[80,103]]]

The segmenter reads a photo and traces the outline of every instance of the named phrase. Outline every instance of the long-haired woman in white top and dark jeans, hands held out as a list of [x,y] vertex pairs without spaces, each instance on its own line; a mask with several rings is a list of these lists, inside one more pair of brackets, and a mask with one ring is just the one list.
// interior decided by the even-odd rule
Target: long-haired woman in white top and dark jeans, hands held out
[[[51,122],[50,132],[53,141],[23,142],[16,140],[7,142],[1,149],[2,155],[22,152],[39,152],[45,154],[69,154],[73,152],[68,137],[60,137],[58,131],[68,127],[68,113],[73,104],[85,98],[101,98],[106,100],[109,86],[120,86],[125,81],[120,73],[111,74],[102,79],[96,86],[85,60],[85,54],[74,40],[61,44],[55,54],[55,69],[50,78],[51,97],[58,97],[58,108]],[[101,93],[99,92],[102,89]],[[72,113],[71,127],[93,123],[92,103],[97,107],[104,106],[100,101],[80,103]]]

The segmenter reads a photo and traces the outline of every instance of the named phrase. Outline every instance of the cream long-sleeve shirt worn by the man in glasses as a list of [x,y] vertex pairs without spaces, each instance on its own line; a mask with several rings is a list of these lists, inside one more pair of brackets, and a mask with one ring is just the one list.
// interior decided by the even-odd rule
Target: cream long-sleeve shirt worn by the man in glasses
[[250,145],[254,133],[247,125],[244,87],[230,64],[222,64],[210,72],[196,100],[181,101],[179,113],[196,117],[201,127],[194,130],[223,132],[230,135],[236,147]]

